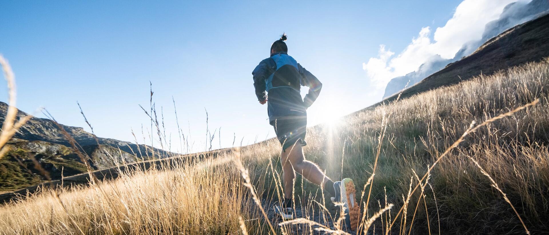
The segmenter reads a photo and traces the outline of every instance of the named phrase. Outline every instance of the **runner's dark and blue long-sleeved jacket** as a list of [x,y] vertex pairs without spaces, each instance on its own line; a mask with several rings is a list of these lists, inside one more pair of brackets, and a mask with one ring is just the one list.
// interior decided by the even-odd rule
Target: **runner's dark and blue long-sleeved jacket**
[[[262,60],[251,74],[257,100],[265,100],[268,93],[267,113],[271,124],[283,116],[306,116],[306,109],[322,89],[322,83],[285,52]],[[301,86],[309,87],[304,99],[301,99]]]

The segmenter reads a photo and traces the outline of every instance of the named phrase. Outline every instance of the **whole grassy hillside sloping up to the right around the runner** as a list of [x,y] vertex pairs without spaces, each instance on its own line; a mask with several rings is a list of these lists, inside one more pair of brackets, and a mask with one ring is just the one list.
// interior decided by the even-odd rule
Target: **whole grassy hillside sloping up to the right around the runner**
[[[548,88],[547,59],[475,77],[311,127],[305,155],[335,180],[354,178],[363,192],[379,151],[366,219],[389,203],[395,206],[369,232],[385,232],[395,221],[394,234],[524,233],[517,215],[473,159],[507,194],[526,227],[532,233],[547,233]],[[491,122],[451,149],[430,171],[423,190],[409,195],[405,216],[396,217],[417,178],[470,122],[482,122],[536,98],[539,104]],[[268,205],[282,191],[278,151],[279,144],[271,139],[215,159],[182,161],[170,169],[121,169],[113,181],[57,191],[44,188],[0,208],[0,233],[256,234],[270,232],[267,221],[277,232],[316,233],[312,228],[318,226],[278,226],[282,221],[271,217]],[[242,159],[245,169],[236,167],[236,159]],[[243,186],[242,172],[249,173],[268,220]],[[295,204],[302,215],[322,225],[337,221],[337,210],[317,187],[300,177],[295,183]]]

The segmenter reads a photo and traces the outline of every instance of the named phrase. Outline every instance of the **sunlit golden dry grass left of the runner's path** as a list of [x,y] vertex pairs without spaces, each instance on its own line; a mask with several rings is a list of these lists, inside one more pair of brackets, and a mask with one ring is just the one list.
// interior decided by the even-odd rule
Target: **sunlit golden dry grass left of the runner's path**
[[114,182],[62,191],[60,198],[70,215],[51,194],[42,193],[25,204],[3,208],[2,232],[79,233],[71,226],[72,217],[90,234],[239,233],[238,216],[249,217],[240,211],[250,209],[253,202],[239,187],[233,166],[206,163],[207,169],[181,165],[128,172]]

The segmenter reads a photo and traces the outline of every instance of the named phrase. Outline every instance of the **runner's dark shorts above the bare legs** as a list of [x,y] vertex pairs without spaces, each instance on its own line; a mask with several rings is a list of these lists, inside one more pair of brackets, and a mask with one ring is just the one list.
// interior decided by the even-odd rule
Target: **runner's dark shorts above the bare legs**
[[301,146],[307,145],[307,142],[305,142],[307,116],[284,116],[275,119],[271,125],[275,127],[276,137],[280,141],[283,151],[290,146],[294,146],[298,141]]

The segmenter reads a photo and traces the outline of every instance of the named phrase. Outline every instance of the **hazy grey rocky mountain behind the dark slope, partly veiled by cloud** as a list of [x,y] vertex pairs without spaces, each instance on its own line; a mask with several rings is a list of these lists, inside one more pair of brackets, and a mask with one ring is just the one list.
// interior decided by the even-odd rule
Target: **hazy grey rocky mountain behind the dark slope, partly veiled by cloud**
[[[456,55],[451,59],[444,59],[440,57],[440,55],[433,55],[433,57],[429,58],[427,62],[419,66],[419,68],[416,71],[410,72],[406,74],[405,76],[395,77],[394,79],[391,79],[387,86],[385,87],[385,93],[383,94],[383,98],[388,98],[390,96],[393,96],[396,93],[399,93],[402,89],[405,88],[405,86],[408,84],[408,87],[411,87],[418,82],[422,81],[426,77],[430,77],[430,75],[434,75],[435,72],[440,71],[441,69],[444,69],[448,64],[453,63],[455,61],[458,61],[464,57],[467,57],[468,55],[471,55],[475,51],[478,50],[478,48],[483,47],[483,44],[489,43],[492,38],[496,37],[497,35],[500,35],[501,33],[505,32],[508,29],[511,29],[513,26],[523,24],[527,21],[539,18],[540,16],[543,16],[545,14],[549,13],[549,1],[547,0],[533,0],[531,2],[514,2],[511,4],[508,4],[504,9],[503,12],[500,15],[500,18],[494,21],[491,21],[490,23],[486,24],[483,36],[478,41],[472,41],[469,43],[466,43],[463,45],[463,47],[456,53]],[[535,40],[535,38],[532,38],[531,40]],[[513,43],[522,43],[517,38],[517,41]],[[533,43],[533,42],[530,42]],[[528,45],[524,45],[525,47],[528,47]],[[502,48],[503,49],[503,48]],[[513,48],[505,48],[505,49],[513,49]],[[542,49],[542,48],[540,48]],[[546,50],[547,52],[547,50]],[[514,54],[520,55],[521,53],[527,53],[523,51],[513,51]],[[506,59],[512,59],[515,64],[522,64],[529,61],[534,61],[535,57],[530,57],[529,55],[514,57],[514,58],[506,58]],[[520,60],[522,59],[522,60]],[[497,59],[501,60],[501,59]],[[508,66],[498,67],[500,69],[508,68]],[[490,69],[490,68],[488,68]],[[486,72],[483,70],[483,73],[486,74]],[[463,75],[460,75],[462,78],[466,77]]]

